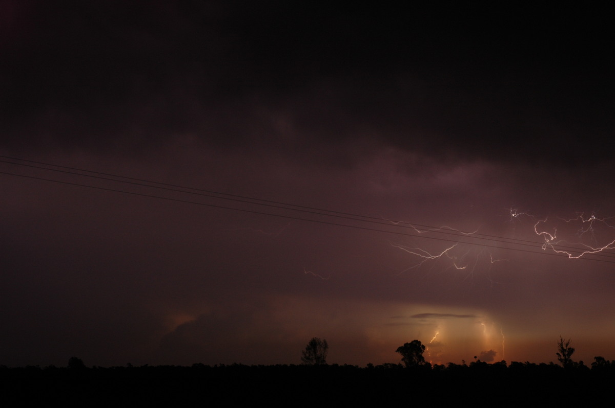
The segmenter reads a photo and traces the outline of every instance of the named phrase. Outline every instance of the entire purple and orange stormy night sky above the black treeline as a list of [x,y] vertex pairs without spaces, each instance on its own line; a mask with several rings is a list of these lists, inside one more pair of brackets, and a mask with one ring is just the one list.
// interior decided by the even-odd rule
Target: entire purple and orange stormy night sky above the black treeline
[[247,3],[0,2],[0,364],[615,358],[610,13]]

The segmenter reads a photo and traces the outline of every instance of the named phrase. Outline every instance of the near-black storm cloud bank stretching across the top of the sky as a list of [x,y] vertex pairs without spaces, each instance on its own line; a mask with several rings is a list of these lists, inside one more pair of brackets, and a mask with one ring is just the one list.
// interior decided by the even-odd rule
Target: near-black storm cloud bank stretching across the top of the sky
[[[363,136],[448,160],[560,164],[605,160],[612,148],[611,28],[598,11],[195,1],[14,9],[2,44],[12,148],[28,139],[143,150],[185,133],[286,148],[263,110],[308,145]],[[579,149],[592,140],[600,148]]]

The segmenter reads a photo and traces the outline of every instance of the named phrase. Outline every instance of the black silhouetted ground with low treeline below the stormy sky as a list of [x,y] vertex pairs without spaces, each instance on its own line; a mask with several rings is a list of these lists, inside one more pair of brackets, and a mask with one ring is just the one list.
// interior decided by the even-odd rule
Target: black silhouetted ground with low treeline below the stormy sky
[[[607,364],[608,363],[608,364]],[[615,366],[504,362],[468,365],[338,364],[7,368],[0,366],[3,406],[274,406],[459,403],[584,405],[608,398]]]

